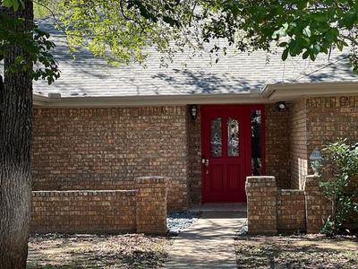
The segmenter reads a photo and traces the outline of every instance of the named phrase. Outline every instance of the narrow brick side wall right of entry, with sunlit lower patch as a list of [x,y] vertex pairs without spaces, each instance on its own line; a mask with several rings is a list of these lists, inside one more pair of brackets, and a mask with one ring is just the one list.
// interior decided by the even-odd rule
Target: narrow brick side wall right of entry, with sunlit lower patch
[[306,100],[294,102],[290,108],[291,187],[303,189],[308,173]]

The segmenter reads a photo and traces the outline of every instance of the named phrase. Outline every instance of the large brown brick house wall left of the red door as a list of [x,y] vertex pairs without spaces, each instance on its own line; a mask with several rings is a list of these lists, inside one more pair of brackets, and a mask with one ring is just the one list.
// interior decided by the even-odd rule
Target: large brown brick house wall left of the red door
[[35,108],[34,190],[131,189],[172,178],[168,207],[188,204],[187,109]]

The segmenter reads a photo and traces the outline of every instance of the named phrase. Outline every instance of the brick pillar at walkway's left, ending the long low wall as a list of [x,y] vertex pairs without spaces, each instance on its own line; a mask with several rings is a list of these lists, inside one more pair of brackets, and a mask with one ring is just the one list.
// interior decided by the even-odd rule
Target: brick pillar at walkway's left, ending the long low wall
[[167,178],[135,178],[137,232],[166,233]]

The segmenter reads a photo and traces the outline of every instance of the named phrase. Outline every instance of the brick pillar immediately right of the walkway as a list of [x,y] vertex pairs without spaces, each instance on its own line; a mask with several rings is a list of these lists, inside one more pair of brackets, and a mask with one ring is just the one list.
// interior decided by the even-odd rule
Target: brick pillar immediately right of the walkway
[[246,178],[249,234],[277,233],[277,185],[275,177]]

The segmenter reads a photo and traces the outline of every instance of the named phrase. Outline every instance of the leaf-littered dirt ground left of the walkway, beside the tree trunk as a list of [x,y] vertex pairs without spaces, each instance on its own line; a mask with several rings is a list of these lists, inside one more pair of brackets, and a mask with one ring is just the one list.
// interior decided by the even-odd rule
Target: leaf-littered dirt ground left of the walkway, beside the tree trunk
[[142,234],[32,235],[28,268],[160,268],[169,246]]

